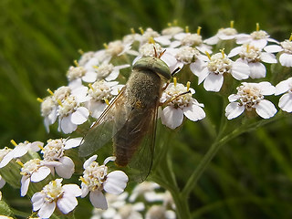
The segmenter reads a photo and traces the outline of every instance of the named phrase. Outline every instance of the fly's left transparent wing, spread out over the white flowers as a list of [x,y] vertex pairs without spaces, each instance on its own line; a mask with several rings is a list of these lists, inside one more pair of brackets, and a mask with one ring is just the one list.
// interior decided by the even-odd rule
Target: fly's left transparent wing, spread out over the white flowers
[[[99,150],[120,130],[130,114],[130,107],[125,104],[125,99],[124,87],[83,138],[79,146],[79,156],[86,157]],[[115,118],[120,118],[119,122]]]

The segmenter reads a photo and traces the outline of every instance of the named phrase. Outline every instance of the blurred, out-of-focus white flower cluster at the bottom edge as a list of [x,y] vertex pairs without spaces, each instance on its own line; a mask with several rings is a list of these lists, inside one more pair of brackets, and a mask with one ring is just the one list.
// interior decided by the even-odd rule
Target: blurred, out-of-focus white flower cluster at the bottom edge
[[171,193],[163,191],[157,183],[145,181],[136,185],[130,193],[107,193],[106,197],[109,208],[105,211],[94,209],[91,219],[176,218]]

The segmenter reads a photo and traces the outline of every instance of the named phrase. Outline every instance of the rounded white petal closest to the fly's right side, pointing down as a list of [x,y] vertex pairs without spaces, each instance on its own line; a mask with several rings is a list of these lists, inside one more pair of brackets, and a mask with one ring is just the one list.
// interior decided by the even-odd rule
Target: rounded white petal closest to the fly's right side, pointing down
[[174,109],[167,106],[161,113],[162,124],[171,128],[172,130],[179,127],[183,123],[183,110]]

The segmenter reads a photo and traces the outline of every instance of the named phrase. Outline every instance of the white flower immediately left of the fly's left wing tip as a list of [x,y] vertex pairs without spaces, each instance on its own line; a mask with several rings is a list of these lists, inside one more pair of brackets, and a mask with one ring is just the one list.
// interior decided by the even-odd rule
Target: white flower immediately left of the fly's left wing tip
[[68,157],[65,156],[65,150],[73,147],[77,147],[81,138],[65,140],[48,140],[47,145],[42,149],[44,162],[47,166],[51,166],[51,172],[54,174],[54,168],[56,169],[57,174],[65,179],[71,178],[72,174],[75,171],[74,162]]

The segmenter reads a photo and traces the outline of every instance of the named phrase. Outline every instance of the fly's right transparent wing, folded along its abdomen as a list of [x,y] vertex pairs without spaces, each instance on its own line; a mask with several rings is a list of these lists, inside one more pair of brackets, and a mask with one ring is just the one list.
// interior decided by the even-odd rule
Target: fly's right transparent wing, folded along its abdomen
[[145,129],[145,123],[148,123],[146,125],[148,126],[146,134],[141,141],[140,147],[129,163],[130,177],[136,182],[144,181],[151,172],[156,136],[157,108],[149,110],[147,113],[144,113],[144,115],[145,120],[150,121],[145,122],[145,120],[141,120],[136,130]]

